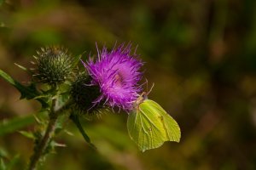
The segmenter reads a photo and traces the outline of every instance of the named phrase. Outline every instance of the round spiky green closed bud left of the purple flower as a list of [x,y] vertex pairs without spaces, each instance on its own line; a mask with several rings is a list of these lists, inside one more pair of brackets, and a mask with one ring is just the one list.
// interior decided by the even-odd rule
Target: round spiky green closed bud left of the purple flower
[[73,58],[67,49],[60,47],[46,47],[34,56],[36,68],[33,69],[33,78],[36,82],[50,85],[65,82],[73,71]]

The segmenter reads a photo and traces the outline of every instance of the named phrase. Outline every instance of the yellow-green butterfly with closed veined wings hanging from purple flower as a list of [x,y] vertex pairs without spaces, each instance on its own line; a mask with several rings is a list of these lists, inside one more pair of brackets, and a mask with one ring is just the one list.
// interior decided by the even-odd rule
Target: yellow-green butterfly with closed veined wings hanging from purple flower
[[142,151],[160,147],[166,141],[179,142],[177,122],[153,100],[145,99],[127,120],[128,133]]

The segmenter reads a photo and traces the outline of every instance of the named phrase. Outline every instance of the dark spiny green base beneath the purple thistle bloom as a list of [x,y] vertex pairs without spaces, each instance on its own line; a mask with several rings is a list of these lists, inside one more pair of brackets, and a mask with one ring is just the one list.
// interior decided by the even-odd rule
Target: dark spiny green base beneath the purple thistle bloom
[[102,103],[97,102],[101,96],[100,87],[92,85],[91,80],[90,76],[80,74],[72,84],[71,96],[74,109],[79,114],[96,113],[103,107]]

